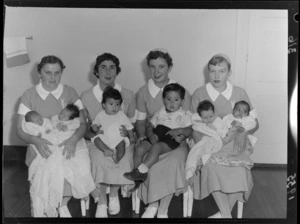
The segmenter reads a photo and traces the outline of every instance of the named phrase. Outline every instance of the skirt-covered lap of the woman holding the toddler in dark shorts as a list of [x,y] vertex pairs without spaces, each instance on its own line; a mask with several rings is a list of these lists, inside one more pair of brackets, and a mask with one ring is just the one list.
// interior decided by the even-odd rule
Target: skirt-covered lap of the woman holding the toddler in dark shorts
[[161,198],[183,193],[186,188],[185,160],[187,148],[178,147],[159,157],[148,173],[148,178],[139,189],[138,195],[144,203],[148,204]]

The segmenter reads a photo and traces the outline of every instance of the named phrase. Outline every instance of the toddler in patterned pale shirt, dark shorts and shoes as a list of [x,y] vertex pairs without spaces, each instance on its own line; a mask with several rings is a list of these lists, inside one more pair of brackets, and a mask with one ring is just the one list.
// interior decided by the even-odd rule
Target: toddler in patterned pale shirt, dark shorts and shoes
[[147,179],[149,169],[158,161],[160,155],[179,146],[181,135],[191,135],[191,114],[182,110],[184,95],[184,87],[177,83],[165,86],[162,94],[164,106],[153,115],[146,130],[149,144],[145,154],[148,154],[141,165],[124,173],[124,177],[137,182],[134,189]]

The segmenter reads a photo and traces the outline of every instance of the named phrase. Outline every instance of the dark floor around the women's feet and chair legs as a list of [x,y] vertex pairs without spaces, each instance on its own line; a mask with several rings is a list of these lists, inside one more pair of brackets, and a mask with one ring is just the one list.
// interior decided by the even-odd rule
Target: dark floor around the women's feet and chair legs
[[[286,168],[252,169],[254,188],[247,203],[244,204],[243,218],[246,219],[281,219],[286,218]],[[2,214],[5,218],[30,217],[29,184],[27,181],[28,168],[22,160],[5,160],[2,169]],[[182,218],[182,195],[174,196],[169,207],[169,218]],[[120,196],[121,212],[109,218],[139,218],[145,209],[141,203],[140,214],[132,211],[131,198]],[[80,218],[80,201],[71,199],[68,208],[73,217]],[[87,218],[95,215],[96,204],[90,200]],[[207,218],[217,211],[211,197],[202,201],[194,200],[191,218]],[[236,217],[236,206],[233,209]],[[10,220],[10,219],[7,219]]]

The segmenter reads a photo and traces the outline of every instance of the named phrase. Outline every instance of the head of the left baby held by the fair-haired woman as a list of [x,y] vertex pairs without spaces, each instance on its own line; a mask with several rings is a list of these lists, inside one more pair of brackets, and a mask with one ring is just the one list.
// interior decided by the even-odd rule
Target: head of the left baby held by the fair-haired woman
[[203,100],[199,103],[197,112],[203,123],[209,124],[216,119],[215,107],[209,100]]

